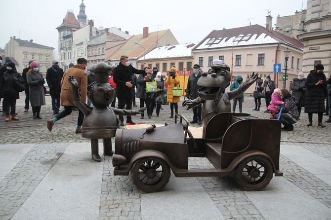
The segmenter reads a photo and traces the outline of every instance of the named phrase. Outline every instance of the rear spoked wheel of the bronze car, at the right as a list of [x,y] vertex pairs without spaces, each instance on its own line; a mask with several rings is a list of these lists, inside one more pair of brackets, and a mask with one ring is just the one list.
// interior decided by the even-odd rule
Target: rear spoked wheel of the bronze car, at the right
[[238,185],[248,191],[263,189],[270,183],[272,176],[272,164],[263,156],[251,156],[244,159],[235,171]]

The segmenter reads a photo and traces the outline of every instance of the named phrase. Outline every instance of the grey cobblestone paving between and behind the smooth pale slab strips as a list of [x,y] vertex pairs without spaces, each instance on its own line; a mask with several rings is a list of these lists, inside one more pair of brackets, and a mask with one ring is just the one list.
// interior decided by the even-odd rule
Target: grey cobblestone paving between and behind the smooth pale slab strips
[[[36,120],[32,119],[31,110],[27,113],[23,111],[23,98],[24,95],[21,94],[21,100],[17,103],[16,111],[17,116],[20,117],[19,121],[4,122],[4,116],[0,116],[0,145],[34,144],[34,147],[0,182],[1,220],[11,219],[20,209],[47,172],[61,157],[68,143],[89,142],[88,139],[83,139],[80,134],[75,134],[78,111],[73,111],[71,115],[56,122],[53,131],[49,132],[46,128],[46,120],[53,117],[50,97],[46,97],[47,105],[41,107],[41,117],[43,118]],[[139,106],[139,99],[137,99],[137,105]],[[169,105],[163,106],[163,109],[160,111],[160,117],[156,117],[154,110],[154,116],[151,119],[148,117],[140,119],[140,115],[136,115],[132,116],[132,120],[145,124],[174,123],[174,118],[169,118]],[[261,118],[269,118],[269,114],[263,112],[266,109],[264,100],[262,100],[260,111],[252,111],[252,109],[254,109],[253,98],[247,96],[243,103],[243,112]],[[189,121],[192,120],[192,110],[186,110],[180,105],[178,110]],[[239,112],[238,106],[236,111]],[[323,121],[326,119],[328,116],[324,116]],[[331,160],[331,124],[325,123],[326,128],[318,127],[317,114],[313,115],[313,126],[307,127],[307,122],[308,116],[303,109],[300,120],[294,125],[294,130],[291,132],[282,131],[282,144],[298,145]],[[190,126],[200,127],[201,125],[190,124]],[[263,137],[261,137],[261,141],[263,141]],[[99,220],[140,220],[142,219],[140,191],[134,186],[129,176],[113,176],[111,159],[111,157],[105,156],[102,161],[104,164]],[[331,209],[331,186],[329,184],[284,155],[280,157],[280,164],[285,179]],[[189,167],[193,169],[213,168],[206,158],[190,158]],[[239,189],[232,178],[201,177],[197,179],[225,219],[265,219],[245,191]]]

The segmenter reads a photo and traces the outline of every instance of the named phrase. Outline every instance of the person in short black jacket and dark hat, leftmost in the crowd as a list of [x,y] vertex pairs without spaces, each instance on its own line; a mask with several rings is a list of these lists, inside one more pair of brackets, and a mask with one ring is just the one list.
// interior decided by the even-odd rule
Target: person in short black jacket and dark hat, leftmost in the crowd
[[17,73],[13,62],[6,63],[6,72],[0,77],[0,97],[3,98],[2,106],[5,113],[5,121],[19,120],[16,116],[16,100],[20,98],[16,89],[16,82],[25,83],[20,73]]

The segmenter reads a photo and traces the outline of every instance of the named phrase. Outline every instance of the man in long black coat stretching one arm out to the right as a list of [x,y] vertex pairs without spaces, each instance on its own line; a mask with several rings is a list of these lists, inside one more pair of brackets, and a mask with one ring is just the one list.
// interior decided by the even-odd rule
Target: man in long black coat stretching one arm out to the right
[[[114,69],[114,82],[116,83],[116,94],[118,98],[118,109],[124,109],[126,105],[126,110],[132,109],[132,96],[131,96],[131,87],[132,87],[132,74],[143,74],[151,73],[151,69],[146,70],[137,70],[130,65],[128,56],[121,56],[120,64]],[[124,126],[123,115],[119,115],[121,120],[121,126]],[[135,124],[131,115],[126,116],[126,123]]]

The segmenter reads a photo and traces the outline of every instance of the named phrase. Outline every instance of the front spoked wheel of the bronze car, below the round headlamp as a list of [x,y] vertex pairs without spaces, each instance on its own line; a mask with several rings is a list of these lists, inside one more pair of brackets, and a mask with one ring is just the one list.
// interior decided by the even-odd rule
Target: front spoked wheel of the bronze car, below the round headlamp
[[169,182],[170,167],[162,159],[140,159],[131,168],[131,178],[141,191],[157,192]]

